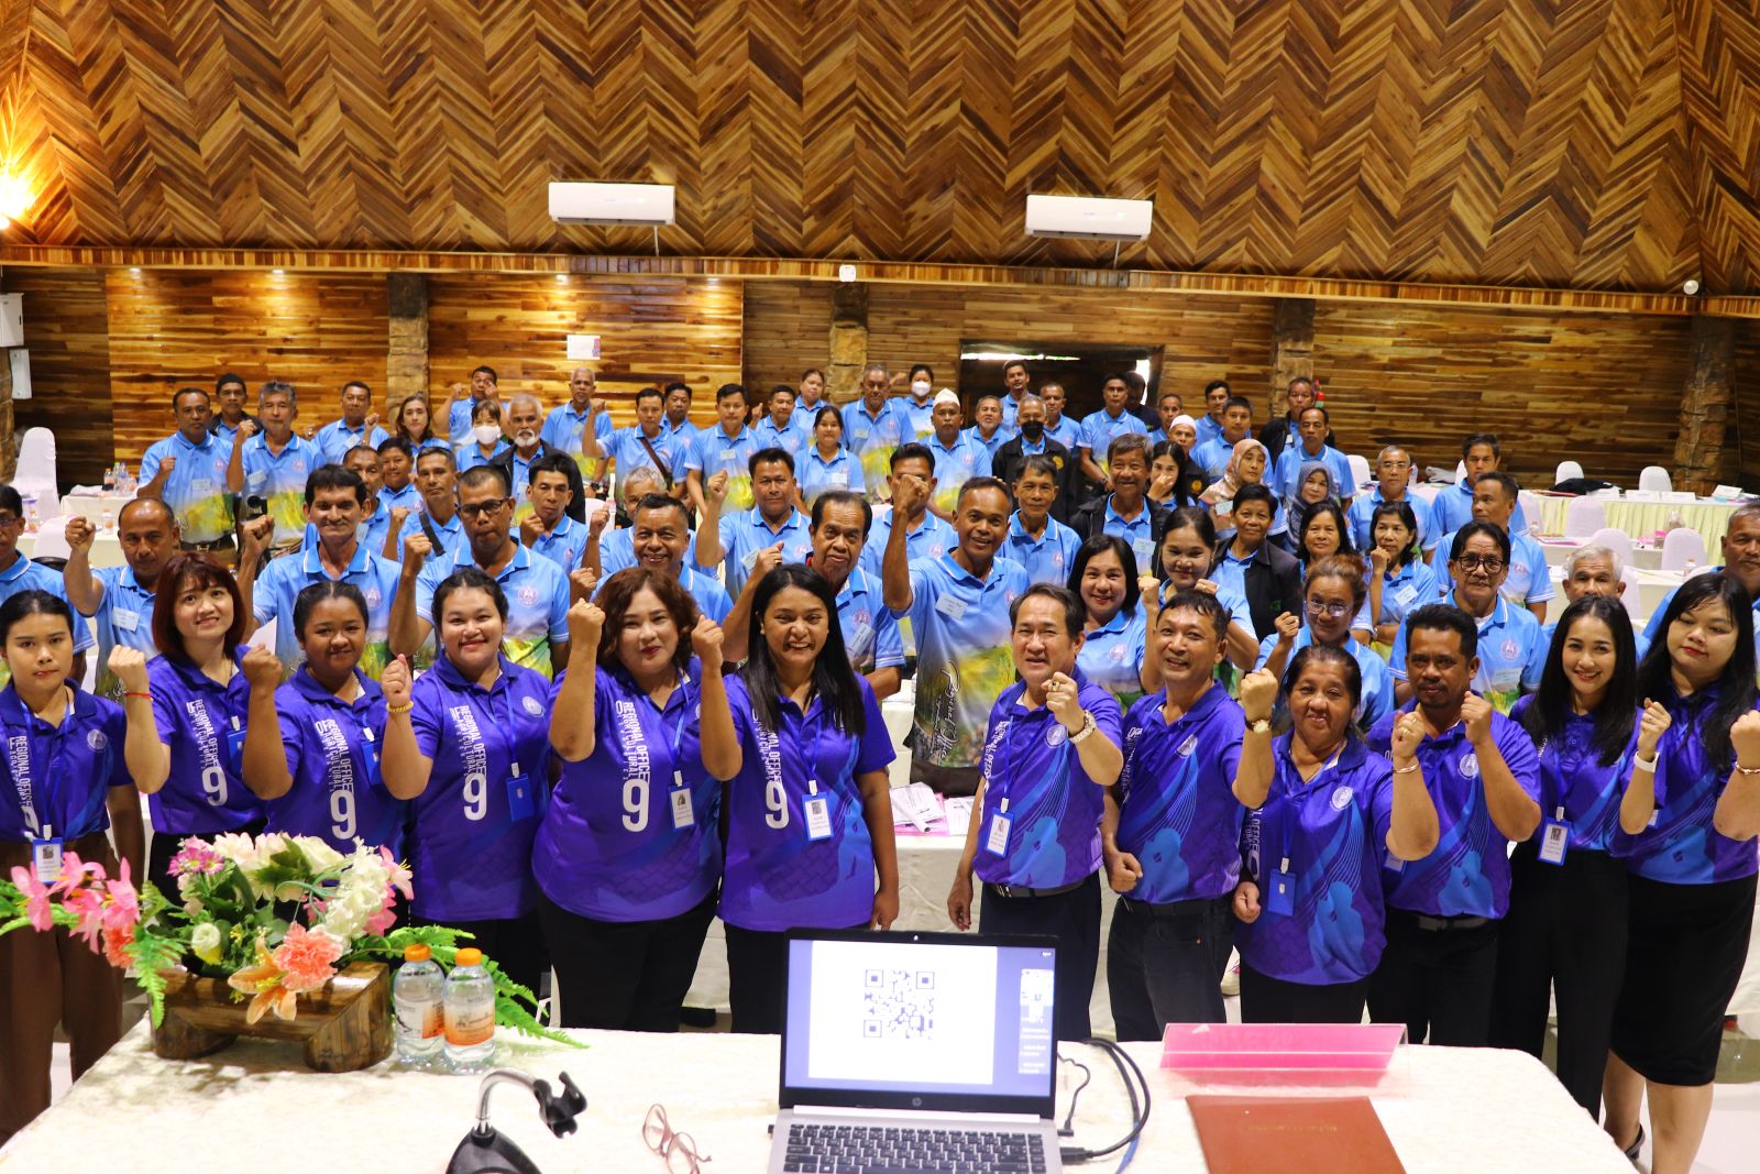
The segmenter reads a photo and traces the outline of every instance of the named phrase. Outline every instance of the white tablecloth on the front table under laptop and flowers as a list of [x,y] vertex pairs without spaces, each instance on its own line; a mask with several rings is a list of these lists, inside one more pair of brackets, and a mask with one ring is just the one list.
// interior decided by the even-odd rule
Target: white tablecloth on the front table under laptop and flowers
[[[641,1141],[653,1102],[662,1102],[672,1126],[692,1134],[699,1153],[713,1158],[706,1174],[764,1169],[766,1126],[776,1112],[776,1037],[579,1035],[590,1051],[528,1042],[502,1049],[503,1065],[553,1084],[565,1070],[586,1093],[579,1134],[563,1139],[539,1123],[523,1091],[503,1086],[495,1093],[495,1126],[547,1174],[662,1174],[664,1165]],[[1199,1088],[1162,1072],[1153,1044],[1128,1049],[1151,1093],[1133,1169],[1202,1170],[1183,1098],[1239,1090]],[[1077,1104],[1074,1142],[1104,1146],[1123,1137],[1130,1111],[1112,1063],[1082,1046],[1065,1046],[1065,1054],[1093,1072]],[[0,1149],[0,1174],[164,1174],[190,1167],[438,1174],[475,1121],[477,1086],[472,1077],[403,1072],[394,1063],[313,1074],[299,1065],[296,1044],[257,1040],[239,1040],[206,1060],[167,1061],[151,1054],[141,1024],[63,1102]],[[1383,1084],[1368,1091],[1412,1174],[1632,1170],[1552,1074],[1522,1053],[1401,1047]],[[1114,1155],[1091,1169],[1116,1165]]]

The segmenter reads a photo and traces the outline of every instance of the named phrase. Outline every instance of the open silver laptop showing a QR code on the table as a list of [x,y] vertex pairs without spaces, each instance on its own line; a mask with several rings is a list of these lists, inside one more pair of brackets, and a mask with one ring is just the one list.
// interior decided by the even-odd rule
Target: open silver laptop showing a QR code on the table
[[792,931],[771,1174],[1058,1174],[1056,942]]

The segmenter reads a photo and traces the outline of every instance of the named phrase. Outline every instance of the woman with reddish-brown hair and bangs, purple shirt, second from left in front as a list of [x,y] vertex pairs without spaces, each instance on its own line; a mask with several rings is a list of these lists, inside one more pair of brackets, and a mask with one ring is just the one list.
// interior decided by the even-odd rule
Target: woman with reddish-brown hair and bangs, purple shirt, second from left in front
[[158,657],[148,664],[125,646],[111,653],[128,715],[128,773],[153,818],[146,877],[169,899],[178,885],[167,869],[185,836],[262,831],[262,804],[241,776],[245,620],[232,572],[208,554],[178,554],[153,600]]

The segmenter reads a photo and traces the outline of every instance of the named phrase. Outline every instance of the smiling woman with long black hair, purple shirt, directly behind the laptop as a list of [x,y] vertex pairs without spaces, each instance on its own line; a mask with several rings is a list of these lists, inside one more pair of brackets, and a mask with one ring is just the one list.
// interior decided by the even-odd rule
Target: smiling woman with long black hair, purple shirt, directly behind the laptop
[[741,766],[727,787],[722,922],[734,1031],[780,1031],[788,929],[885,929],[898,917],[892,739],[843,651],[824,576],[776,567],[752,616],[750,655],[727,686]]

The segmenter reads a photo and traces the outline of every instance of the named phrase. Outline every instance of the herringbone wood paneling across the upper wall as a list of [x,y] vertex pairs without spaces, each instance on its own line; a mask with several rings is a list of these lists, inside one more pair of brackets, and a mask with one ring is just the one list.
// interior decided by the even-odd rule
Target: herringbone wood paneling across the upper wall
[[678,255],[1107,259],[1023,234],[1065,192],[1155,199],[1137,268],[1760,289],[1756,0],[0,11],[9,239],[644,250],[547,218],[604,178],[678,185]]

